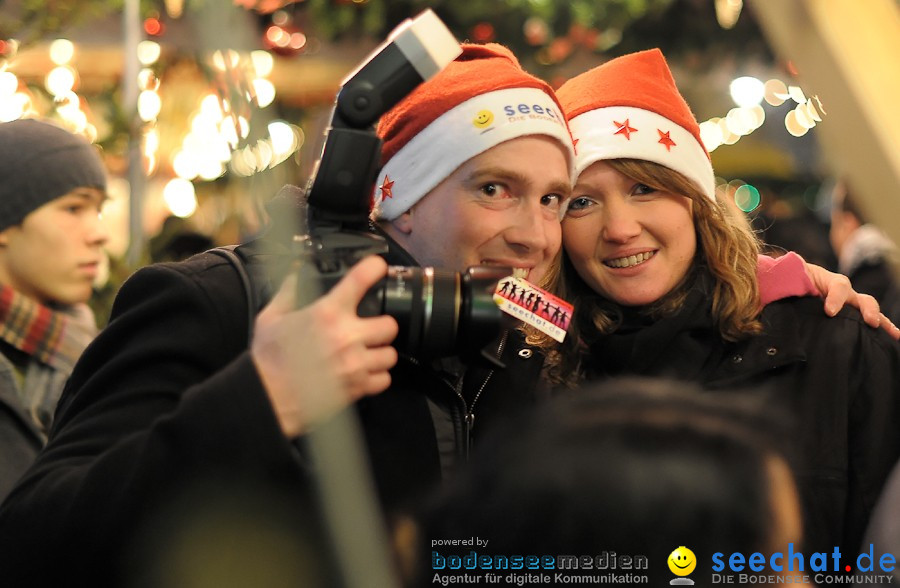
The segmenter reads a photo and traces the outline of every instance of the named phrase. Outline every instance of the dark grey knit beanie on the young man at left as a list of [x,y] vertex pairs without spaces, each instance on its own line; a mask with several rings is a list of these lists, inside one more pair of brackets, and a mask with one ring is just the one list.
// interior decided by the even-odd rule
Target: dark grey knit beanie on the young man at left
[[49,122],[0,123],[0,230],[75,188],[106,191],[93,145]]

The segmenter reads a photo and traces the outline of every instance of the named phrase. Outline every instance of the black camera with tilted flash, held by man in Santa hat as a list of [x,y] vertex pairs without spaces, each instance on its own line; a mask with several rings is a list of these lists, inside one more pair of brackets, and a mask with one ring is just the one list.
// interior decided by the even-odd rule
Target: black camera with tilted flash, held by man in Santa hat
[[[322,154],[306,189],[303,234],[294,237],[301,259],[298,300],[328,291],[357,261],[385,254],[388,243],[369,226],[369,200],[381,157],[374,125],[382,114],[456,56],[459,43],[431,11],[401,24],[341,85],[325,131]],[[493,301],[511,268],[389,268],[360,303],[360,316],[393,316],[394,346],[429,359],[477,356],[503,324]],[[485,355],[489,361],[493,358]]]

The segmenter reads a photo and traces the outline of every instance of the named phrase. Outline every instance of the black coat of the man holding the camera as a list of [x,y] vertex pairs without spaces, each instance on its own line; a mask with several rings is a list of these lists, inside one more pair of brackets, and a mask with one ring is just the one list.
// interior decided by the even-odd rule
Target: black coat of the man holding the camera
[[[477,374],[481,428],[529,402],[537,382],[541,360],[523,359],[511,343],[505,350],[508,369]],[[359,405],[388,510],[438,484],[439,442],[454,446],[446,462],[468,441],[460,398],[442,375],[407,358],[393,377]],[[433,415],[460,439],[436,432]],[[72,374],[49,444],[0,508],[3,584],[164,585],[153,580],[155,546],[219,498],[290,529],[315,527],[310,471],[303,441],[281,433],[251,361],[233,267],[206,253],[143,268]]]

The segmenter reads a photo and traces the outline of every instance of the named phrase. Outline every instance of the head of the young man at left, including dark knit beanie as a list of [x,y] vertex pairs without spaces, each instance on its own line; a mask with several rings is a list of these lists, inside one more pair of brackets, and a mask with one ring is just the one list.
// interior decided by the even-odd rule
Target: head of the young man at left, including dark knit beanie
[[108,238],[96,148],[50,122],[0,123],[0,178],[0,283],[41,304],[87,301]]

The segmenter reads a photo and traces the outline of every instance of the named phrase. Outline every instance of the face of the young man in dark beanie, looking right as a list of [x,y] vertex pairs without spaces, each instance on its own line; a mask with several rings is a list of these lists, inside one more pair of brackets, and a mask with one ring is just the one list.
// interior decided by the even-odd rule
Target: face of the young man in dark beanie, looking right
[[0,232],[0,282],[42,304],[86,302],[108,234],[105,196],[78,188]]

